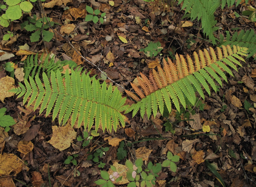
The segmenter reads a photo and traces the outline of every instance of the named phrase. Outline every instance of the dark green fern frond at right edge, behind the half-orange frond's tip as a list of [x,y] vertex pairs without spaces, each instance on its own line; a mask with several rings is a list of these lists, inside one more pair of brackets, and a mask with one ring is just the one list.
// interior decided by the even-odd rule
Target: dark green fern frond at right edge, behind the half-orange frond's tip
[[[226,31],[226,39],[224,39],[223,35],[220,35],[220,45],[237,45],[240,47],[248,48],[248,56],[247,58],[252,57],[256,54],[256,34],[253,29],[241,30],[239,33],[235,32],[232,36],[229,31]],[[238,54],[239,55],[239,54]],[[233,55],[234,56],[234,55]],[[235,56],[237,58],[237,56]],[[256,57],[254,58],[254,60]]]

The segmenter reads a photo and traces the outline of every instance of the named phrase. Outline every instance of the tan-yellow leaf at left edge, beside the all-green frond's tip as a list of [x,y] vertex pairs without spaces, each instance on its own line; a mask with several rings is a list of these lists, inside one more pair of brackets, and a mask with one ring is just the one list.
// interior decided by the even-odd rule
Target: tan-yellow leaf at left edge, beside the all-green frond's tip
[[14,96],[14,92],[9,92],[10,89],[15,88],[14,87],[15,81],[14,78],[6,76],[1,78],[0,80],[0,99],[4,103],[4,99],[6,97]]

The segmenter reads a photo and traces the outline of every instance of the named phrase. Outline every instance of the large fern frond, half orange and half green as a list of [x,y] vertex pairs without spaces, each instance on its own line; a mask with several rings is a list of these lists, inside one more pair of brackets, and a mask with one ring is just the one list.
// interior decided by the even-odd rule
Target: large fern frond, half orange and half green
[[[143,90],[131,84],[134,91],[138,94],[138,97],[130,91],[126,91],[127,95],[135,96],[134,98],[140,97],[141,100],[132,104],[125,113],[133,111],[132,115],[134,116],[140,110],[142,117],[144,117],[145,113],[147,117],[150,117],[152,112],[153,115],[156,116],[157,110],[163,114],[164,105],[166,105],[168,111],[171,112],[172,103],[176,110],[180,111],[180,105],[186,108],[186,105],[196,104],[196,92],[198,92],[203,99],[205,99],[203,89],[209,95],[211,94],[210,88],[216,92],[218,89],[215,81],[221,86],[221,78],[227,82],[227,77],[223,71],[226,71],[232,76],[231,68],[237,70],[236,65],[241,66],[239,60],[244,61],[241,56],[246,56],[247,51],[247,48],[239,46],[233,46],[233,49],[231,49],[230,46],[222,46],[222,48],[223,49],[217,47],[217,54],[211,47],[209,47],[209,52],[206,49],[203,50],[204,52],[199,51],[200,58],[198,58],[198,54],[194,52],[194,61],[189,56],[187,56],[187,60],[185,60],[182,55],[175,56],[176,64],[168,59],[167,65],[166,61],[163,60],[163,69],[158,68],[158,72],[153,71],[154,76],[151,75],[153,73],[150,71],[149,81],[144,78],[143,81],[139,82]],[[201,64],[201,66],[199,67],[198,64]],[[171,70],[170,67],[173,67],[172,69],[175,71]],[[159,72],[159,70],[161,70],[161,72]],[[179,72],[178,80],[172,78],[173,74],[176,75],[177,72]],[[137,77],[137,79],[140,78]],[[158,82],[160,82],[160,80],[164,82],[166,81],[165,79],[172,79],[173,81],[169,82],[168,85],[161,86]],[[152,85],[156,82],[159,89],[150,89],[152,85],[148,85],[149,82],[151,82]]]

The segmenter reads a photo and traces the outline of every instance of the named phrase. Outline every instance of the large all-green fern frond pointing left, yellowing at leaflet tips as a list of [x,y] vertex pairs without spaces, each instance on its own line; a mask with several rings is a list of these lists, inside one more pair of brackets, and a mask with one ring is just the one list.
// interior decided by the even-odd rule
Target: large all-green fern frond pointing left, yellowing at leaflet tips
[[[24,95],[23,103],[27,106],[35,103],[34,110],[41,106],[39,113],[46,109],[46,116],[52,111],[53,120],[58,116],[59,123],[65,124],[71,117],[71,125],[78,122],[80,127],[83,124],[90,130],[95,124],[95,130],[101,126],[102,129],[116,131],[119,124],[125,125],[127,117],[121,114],[128,105],[124,105],[126,98],[122,98],[117,88],[89,74],[84,74],[77,70],[71,70],[71,74],[66,71],[62,75],[60,70],[52,71],[50,79],[45,72],[42,73],[42,81],[38,74],[35,80],[29,76],[29,82],[24,80],[25,86],[19,83],[18,88],[10,91]],[[143,106],[144,108],[146,105]]]

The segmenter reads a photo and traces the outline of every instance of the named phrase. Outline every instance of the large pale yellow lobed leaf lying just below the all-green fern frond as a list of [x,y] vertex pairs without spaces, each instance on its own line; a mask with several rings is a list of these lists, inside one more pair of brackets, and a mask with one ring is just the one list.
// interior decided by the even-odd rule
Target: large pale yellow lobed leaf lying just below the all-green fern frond
[[52,126],[52,138],[48,141],[60,151],[69,148],[71,142],[76,139],[77,132],[68,123],[64,127]]

